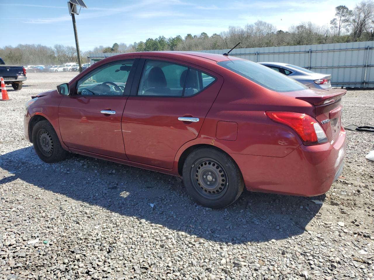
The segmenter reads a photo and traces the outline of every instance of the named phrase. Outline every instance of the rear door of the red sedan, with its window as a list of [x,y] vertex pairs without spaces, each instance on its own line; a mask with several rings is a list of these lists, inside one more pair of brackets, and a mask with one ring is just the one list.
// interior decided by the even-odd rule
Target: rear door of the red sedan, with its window
[[208,69],[174,59],[140,61],[122,116],[129,160],[172,169],[178,149],[195,139],[223,84]]

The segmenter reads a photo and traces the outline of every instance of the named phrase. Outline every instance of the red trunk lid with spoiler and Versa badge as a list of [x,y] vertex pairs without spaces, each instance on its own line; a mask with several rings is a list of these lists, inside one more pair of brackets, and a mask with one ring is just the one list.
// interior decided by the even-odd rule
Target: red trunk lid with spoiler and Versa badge
[[299,91],[296,99],[312,103],[315,106],[315,118],[324,129],[329,142],[334,143],[341,130],[341,97],[347,90],[306,90]]

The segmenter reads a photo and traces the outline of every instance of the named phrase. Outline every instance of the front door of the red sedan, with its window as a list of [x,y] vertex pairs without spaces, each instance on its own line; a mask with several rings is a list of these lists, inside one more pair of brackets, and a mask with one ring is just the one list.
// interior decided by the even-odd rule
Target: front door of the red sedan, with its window
[[72,149],[127,159],[121,118],[137,60],[106,63],[74,85],[59,105],[62,141]]

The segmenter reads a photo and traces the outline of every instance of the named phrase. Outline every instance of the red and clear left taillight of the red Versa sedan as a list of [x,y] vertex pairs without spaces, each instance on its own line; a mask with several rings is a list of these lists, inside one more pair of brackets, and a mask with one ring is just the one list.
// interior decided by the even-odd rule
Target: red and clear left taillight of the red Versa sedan
[[272,121],[291,127],[305,145],[321,144],[328,141],[321,125],[309,115],[278,111],[267,111],[265,113]]

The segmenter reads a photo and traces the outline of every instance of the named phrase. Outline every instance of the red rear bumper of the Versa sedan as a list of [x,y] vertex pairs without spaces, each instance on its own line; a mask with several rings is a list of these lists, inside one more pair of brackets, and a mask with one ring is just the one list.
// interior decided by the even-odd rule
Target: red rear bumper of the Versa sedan
[[344,129],[335,143],[301,145],[283,158],[230,154],[247,190],[298,196],[326,193],[343,170]]

